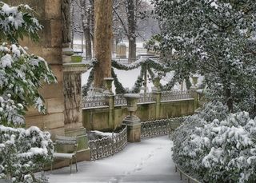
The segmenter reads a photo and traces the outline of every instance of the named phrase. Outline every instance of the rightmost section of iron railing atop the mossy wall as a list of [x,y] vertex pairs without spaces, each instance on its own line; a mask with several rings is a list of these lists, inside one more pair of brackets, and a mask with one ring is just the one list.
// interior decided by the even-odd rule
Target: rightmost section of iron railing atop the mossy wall
[[187,91],[164,91],[161,95],[161,101],[174,101],[194,98],[190,90]]

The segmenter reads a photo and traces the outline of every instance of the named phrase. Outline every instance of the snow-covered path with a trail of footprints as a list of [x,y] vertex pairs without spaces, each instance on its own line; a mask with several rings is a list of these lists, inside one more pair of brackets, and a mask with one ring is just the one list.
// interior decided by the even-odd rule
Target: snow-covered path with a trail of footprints
[[140,143],[128,144],[126,149],[98,161],[78,163],[78,173],[70,174],[70,167],[54,170],[50,182],[136,182],[136,183],[179,183],[174,172],[168,137],[155,137]]

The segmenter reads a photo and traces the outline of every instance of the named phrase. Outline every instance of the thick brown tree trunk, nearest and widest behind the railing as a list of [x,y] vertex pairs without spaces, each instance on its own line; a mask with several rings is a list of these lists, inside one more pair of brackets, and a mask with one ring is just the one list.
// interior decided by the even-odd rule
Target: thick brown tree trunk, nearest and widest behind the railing
[[112,0],[95,0],[94,18],[94,88],[103,88],[111,76]]

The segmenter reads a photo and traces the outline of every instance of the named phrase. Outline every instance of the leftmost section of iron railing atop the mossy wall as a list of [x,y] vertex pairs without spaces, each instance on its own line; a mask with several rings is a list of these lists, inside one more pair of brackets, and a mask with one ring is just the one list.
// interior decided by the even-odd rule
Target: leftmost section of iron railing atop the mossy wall
[[105,95],[95,95],[93,97],[84,97],[82,100],[83,108],[107,106]]

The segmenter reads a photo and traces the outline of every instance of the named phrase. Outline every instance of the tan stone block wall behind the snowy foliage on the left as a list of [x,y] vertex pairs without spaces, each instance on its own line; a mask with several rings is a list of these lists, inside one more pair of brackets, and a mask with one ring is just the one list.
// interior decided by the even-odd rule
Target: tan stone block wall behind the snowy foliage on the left
[[62,10],[61,0],[6,0],[10,5],[28,4],[38,14],[38,20],[43,29],[39,33],[39,42],[30,38],[20,41],[27,46],[29,52],[46,59],[51,70],[57,77],[58,84],[45,85],[40,93],[45,99],[47,113],[42,115],[32,107],[26,113],[26,126],[37,125],[54,134],[64,134],[64,96],[62,70]]

